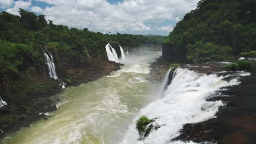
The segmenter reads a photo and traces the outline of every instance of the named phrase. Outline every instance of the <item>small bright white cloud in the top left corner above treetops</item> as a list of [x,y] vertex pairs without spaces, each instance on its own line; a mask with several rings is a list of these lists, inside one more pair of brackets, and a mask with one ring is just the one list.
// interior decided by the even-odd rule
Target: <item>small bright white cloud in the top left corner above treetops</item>
[[30,9],[30,5],[31,5],[31,0],[29,1],[16,1],[14,3],[13,8],[7,9],[5,11],[7,11],[8,13],[14,14],[14,15],[19,15],[19,8],[21,9]]

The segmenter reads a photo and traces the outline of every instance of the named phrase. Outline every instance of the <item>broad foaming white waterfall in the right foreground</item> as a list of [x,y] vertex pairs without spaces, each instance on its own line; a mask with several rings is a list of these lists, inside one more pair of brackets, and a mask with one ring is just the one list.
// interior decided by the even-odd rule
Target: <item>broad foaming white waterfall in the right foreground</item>
[[[177,68],[175,73],[164,97],[140,111],[121,143],[184,143],[170,140],[179,135],[179,130],[184,124],[206,121],[216,115],[219,106],[224,105],[222,101],[206,101],[206,98],[220,91],[220,88],[240,83],[238,78],[228,82],[223,80],[227,76],[199,74],[183,68]],[[167,75],[166,79],[168,79]],[[166,81],[168,80],[165,80],[163,85],[166,85]],[[157,118],[155,121],[161,125],[161,128],[151,131],[146,139],[139,141],[135,123],[142,115],[150,119]]]

